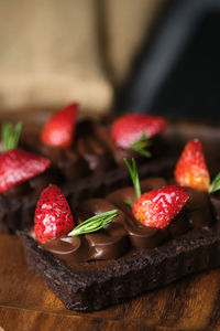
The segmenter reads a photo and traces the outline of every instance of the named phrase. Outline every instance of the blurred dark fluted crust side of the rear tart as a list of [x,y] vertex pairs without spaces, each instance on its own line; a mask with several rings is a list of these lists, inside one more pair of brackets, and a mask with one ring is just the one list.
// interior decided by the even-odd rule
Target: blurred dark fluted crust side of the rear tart
[[[140,178],[162,175],[167,178],[175,164],[175,158],[157,158],[146,160],[139,167]],[[66,195],[69,205],[74,209],[81,200],[107,195],[114,189],[130,185],[131,180],[124,169],[113,169],[98,175],[91,175],[73,183],[64,183],[61,190]],[[0,232],[15,233],[16,229],[25,229],[33,226],[34,211],[38,195],[20,196],[9,199],[0,194]]]

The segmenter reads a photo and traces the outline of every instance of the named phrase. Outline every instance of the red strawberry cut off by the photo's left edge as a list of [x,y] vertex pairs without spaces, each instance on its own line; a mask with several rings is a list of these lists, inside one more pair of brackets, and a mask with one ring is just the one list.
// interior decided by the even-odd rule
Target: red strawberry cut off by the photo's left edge
[[48,159],[21,149],[3,152],[0,156],[0,193],[44,172],[50,166]]

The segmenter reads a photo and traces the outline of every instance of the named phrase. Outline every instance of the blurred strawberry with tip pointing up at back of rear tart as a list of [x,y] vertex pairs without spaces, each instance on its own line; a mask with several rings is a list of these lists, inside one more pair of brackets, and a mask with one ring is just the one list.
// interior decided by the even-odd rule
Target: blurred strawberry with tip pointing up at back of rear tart
[[73,142],[78,104],[55,113],[43,127],[41,140],[47,146],[68,148]]

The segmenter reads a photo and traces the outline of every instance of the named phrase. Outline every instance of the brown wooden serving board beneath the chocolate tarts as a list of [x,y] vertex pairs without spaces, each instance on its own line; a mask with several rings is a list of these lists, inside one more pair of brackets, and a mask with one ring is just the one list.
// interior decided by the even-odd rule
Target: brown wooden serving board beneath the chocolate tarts
[[[34,116],[31,120],[35,122]],[[220,169],[219,127],[178,121],[166,138],[179,150],[186,140],[201,138],[211,172],[216,173]],[[65,309],[29,270],[20,239],[0,234],[0,331],[123,329],[220,330],[220,269],[187,277],[123,305],[78,313]]]

